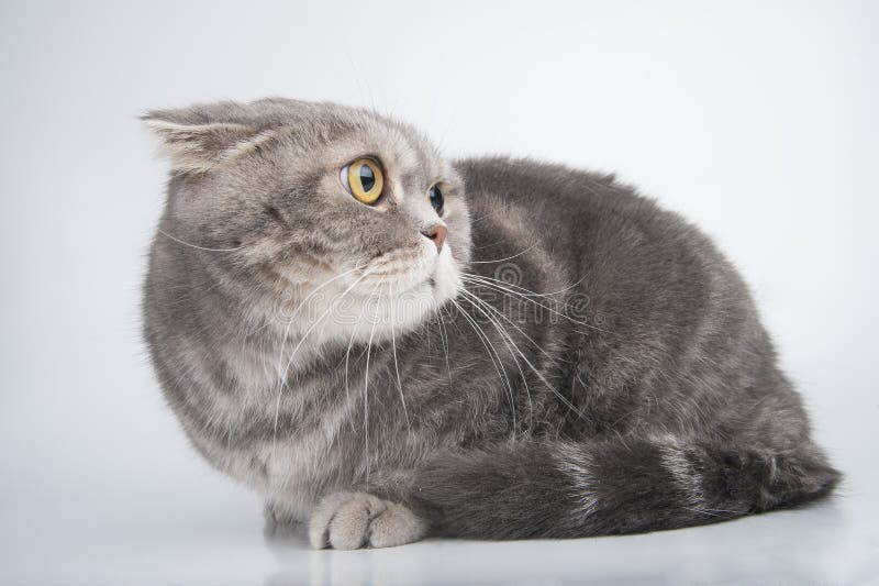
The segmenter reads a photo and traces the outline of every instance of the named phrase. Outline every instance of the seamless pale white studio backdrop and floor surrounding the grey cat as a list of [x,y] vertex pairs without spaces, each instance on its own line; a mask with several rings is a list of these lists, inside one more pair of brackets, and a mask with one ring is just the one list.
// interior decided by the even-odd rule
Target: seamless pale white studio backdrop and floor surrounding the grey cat
[[[3,2],[0,582],[875,577],[878,15],[869,1]],[[449,156],[614,170],[694,220],[752,284],[847,474],[841,497],[621,540],[266,546],[258,501],[188,447],[138,339],[166,165],[136,115],[272,95],[375,107]]]

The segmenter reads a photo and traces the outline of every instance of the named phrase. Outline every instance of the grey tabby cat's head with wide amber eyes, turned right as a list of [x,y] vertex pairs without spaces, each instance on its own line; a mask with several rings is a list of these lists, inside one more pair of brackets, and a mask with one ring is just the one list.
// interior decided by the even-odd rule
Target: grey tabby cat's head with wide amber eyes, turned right
[[315,340],[379,340],[423,323],[460,289],[464,186],[410,126],[285,99],[143,121],[171,164],[164,262],[233,291],[245,318]]

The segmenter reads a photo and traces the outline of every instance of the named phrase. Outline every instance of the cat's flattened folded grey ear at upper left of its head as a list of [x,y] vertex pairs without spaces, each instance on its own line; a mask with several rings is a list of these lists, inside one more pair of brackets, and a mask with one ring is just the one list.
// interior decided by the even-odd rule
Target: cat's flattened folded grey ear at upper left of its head
[[141,117],[162,140],[163,153],[176,170],[207,172],[251,152],[272,135],[270,130],[246,122],[187,118],[186,112],[176,110],[155,110]]

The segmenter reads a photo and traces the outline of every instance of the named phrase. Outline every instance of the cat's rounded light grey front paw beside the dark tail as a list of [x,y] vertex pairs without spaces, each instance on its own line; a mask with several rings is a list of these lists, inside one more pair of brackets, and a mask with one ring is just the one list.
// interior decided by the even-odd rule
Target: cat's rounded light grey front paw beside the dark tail
[[334,493],[321,500],[309,522],[315,549],[392,548],[418,541],[426,524],[397,502],[366,493]]

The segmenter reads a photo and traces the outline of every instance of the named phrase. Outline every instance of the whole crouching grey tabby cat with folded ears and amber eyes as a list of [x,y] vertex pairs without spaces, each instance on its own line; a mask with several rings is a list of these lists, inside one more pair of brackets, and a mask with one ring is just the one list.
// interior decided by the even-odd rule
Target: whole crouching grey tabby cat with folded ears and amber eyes
[[611,175],[448,162],[368,110],[143,117],[146,344],[212,465],[314,548],[713,523],[839,473],[746,285]]

